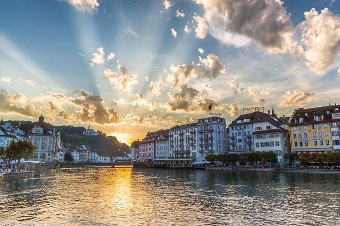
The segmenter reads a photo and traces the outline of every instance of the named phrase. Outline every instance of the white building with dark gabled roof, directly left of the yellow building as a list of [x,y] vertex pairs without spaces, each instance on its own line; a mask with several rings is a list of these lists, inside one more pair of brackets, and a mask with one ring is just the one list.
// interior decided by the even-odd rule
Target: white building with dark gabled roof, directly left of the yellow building
[[[285,166],[284,154],[290,152],[288,120],[278,118],[272,110],[271,114],[257,111],[253,118],[254,151],[276,153],[281,167]],[[247,138],[246,138],[247,139]],[[248,144],[252,140],[245,140]]]

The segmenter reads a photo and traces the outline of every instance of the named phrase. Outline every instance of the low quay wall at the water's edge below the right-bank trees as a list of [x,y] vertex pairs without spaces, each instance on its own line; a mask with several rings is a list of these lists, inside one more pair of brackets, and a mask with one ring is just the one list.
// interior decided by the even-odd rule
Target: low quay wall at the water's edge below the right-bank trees
[[232,170],[232,171],[261,171],[282,173],[316,173],[316,174],[338,174],[340,170],[327,169],[282,169],[282,168],[247,168],[247,167],[206,167],[207,170]]

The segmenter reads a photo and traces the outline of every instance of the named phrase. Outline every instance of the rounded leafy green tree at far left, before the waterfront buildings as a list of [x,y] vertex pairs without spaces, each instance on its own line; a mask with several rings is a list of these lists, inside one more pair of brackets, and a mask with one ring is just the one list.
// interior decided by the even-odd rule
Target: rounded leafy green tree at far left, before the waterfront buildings
[[29,159],[33,156],[35,146],[28,141],[18,140],[17,142],[12,141],[6,148],[6,156],[9,159],[15,159],[19,161],[21,158]]

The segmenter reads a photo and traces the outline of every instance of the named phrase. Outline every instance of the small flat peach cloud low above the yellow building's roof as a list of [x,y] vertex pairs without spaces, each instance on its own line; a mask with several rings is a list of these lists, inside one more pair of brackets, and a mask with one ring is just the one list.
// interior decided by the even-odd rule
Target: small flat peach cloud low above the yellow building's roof
[[286,91],[286,95],[282,97],[284,100],[279,103],[279,107],[304,107],[304,103],[312,101],[316,97],[316,94],[305,93],[299,90],[294,90],[294,93],[291,93],[288,90]]

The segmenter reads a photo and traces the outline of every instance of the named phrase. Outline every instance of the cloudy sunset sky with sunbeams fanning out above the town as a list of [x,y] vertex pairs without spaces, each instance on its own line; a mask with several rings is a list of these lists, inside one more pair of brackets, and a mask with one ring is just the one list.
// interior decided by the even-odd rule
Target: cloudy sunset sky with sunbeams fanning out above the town
[[243,107],[334,104],[337,0],[0,0],[0,117],[120,141]]

